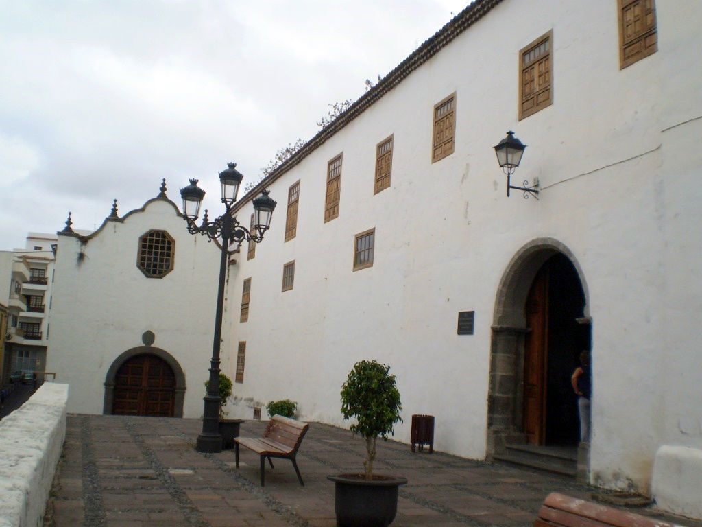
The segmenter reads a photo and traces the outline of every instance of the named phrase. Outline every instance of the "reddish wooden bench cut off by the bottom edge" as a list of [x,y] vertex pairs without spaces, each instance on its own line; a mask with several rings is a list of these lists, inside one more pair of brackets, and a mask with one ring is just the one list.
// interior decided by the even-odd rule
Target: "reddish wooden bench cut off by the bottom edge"
[[551,493],[538,512],[534,527],[680,527],[607,505]]

